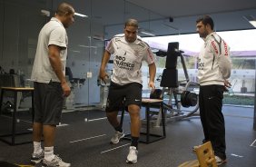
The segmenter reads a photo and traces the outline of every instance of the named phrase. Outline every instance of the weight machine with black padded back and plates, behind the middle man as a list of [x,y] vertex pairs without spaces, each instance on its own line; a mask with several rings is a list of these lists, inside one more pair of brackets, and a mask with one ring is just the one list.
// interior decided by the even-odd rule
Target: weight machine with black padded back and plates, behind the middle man
[[[198,94],[196,93],[196,90],[199,89],[199,83],[190,80],[182,53],[179,50],[179,43],[169,43],[167,52],[159,51],[156,53],[156,55],[162,57],[164,55],[167,56],[160,83],[162,94],[159,95],[159,98],[162,98],[164,102],[163,109],[166,122],[178,121],[199,115],[196,113],[199,108]],[[183,81],[178,81],[178,70],[176,69],[178,58],[181,58],[185,76]],[[156,91],[159,92],[159,90]],[[155,94],[153,93],[151,95]],[[184,110],[185,108],[187,110]],[[158,114],[155,126],[160,126],[161,113],[153,113]]]

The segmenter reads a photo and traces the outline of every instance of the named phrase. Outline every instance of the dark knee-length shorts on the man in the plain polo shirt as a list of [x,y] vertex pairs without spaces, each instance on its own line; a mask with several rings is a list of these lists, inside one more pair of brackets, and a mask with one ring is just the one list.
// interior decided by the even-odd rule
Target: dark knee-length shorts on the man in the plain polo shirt
[[61,83],[34,82],[34,123],[60,123],[64,96]]

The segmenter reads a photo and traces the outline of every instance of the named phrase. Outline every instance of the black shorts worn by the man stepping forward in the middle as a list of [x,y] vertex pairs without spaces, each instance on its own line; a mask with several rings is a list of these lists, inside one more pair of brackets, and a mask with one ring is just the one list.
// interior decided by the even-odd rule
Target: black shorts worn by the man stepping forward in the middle
[[[143,85],[140,83],[128,83],[119,85],[111,83],[106,103],[106,112],[117,112],[130,104],[142,106]],[[124,102],[124,103],[123,103]]]

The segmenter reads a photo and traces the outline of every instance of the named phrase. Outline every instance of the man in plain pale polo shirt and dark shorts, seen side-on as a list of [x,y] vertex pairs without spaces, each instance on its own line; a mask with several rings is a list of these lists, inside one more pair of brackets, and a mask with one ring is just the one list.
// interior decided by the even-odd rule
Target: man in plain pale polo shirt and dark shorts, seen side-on
[[[34,81],[34,152],[31,162],[42,166],[69,167],[54,154],[56,125],[60,123],[64,96],[71,92],[65,80],[67,55],[65,28],[74,23],[74,8],[62,3],[38,36],[31,79]],[[44,135],[43,135],[44,134]],[[44,136],[44,150],[41,138]]]

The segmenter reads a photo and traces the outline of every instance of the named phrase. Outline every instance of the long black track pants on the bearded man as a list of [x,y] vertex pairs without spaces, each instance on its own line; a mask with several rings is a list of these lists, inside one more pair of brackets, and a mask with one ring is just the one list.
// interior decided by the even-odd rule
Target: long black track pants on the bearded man
[[203,142],[211,141],[215,155],[226,159],[225,122],[222,114],[222,85],[200,86],[199,106],[202,129],[204,133]]

